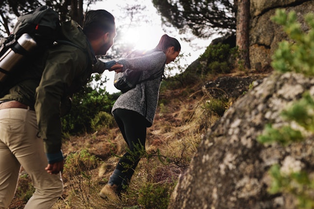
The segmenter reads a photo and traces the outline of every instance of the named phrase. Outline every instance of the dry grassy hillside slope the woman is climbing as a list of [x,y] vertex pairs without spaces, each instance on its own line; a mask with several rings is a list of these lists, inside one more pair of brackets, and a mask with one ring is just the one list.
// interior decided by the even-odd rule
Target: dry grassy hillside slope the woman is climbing
[[[229,74],[161,91],[154,125],[147,129],[147,153],[143,153],[120,203],[98,196],[127,149],[119,129],[68,137],[62,148],[66,155],[64,193],[53,209],[166,208],[179,174],[188,167],[207,129],[249,90],[252,81],[265,76]],[[23,208],[32,191],[27,174],[22,172],[10,209]]]

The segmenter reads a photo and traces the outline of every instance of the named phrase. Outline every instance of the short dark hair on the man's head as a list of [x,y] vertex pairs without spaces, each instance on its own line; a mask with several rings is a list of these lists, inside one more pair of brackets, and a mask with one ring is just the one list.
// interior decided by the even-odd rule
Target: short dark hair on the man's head
[[115,18],[106,10],[90,10],[84,16],[83,31],[88,38],[96,39],[106,32],[114,32]]

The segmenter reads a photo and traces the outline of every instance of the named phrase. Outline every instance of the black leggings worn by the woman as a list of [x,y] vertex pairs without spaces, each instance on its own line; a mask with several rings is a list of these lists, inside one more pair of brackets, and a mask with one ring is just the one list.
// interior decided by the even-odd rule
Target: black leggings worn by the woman
[[130,151],[123,155],[116,167],[122,171],[122,185],[128,185],[140,161],[139,149],[145,150],[147,120],[140,113],[125,109],[116,109],[113,116]]

